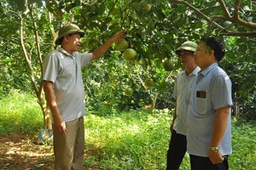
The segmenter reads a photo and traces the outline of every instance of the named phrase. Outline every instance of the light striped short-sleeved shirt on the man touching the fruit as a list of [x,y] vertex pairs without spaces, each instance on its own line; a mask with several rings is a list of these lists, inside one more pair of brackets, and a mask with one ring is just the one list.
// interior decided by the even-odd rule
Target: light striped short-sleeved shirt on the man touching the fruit
[[44,59],[43,80],[54,83],[56,103],[65,122],[85,115],[81,69],[89,64],[91,57],[91,53],[74,52],[70,55],[63,48],[58,48]]

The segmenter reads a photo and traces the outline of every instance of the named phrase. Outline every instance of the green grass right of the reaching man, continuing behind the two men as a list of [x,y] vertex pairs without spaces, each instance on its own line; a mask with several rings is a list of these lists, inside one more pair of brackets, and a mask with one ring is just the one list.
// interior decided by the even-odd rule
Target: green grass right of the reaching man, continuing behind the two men
[[[158,111],[148,116],[145,111],[122,115],[94,116],[85,119],[87,152],[94,153],[85,165],[104,169],[165,169],[172,115]],[[256,167],[255,122],[233,120],[233,154],[230,169],[253,170]],[[133,162],[133,163],[132,163]],[[186,155],[181,169],[189,169]]]

